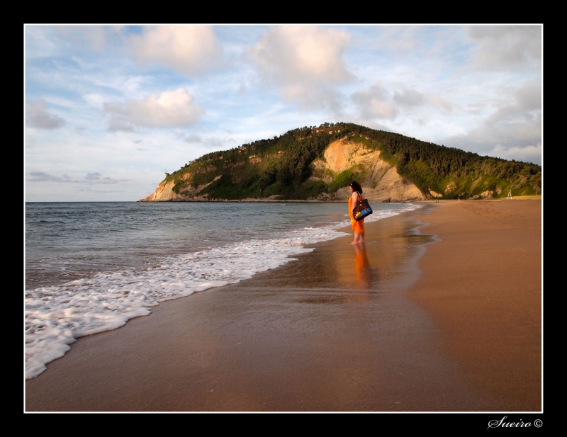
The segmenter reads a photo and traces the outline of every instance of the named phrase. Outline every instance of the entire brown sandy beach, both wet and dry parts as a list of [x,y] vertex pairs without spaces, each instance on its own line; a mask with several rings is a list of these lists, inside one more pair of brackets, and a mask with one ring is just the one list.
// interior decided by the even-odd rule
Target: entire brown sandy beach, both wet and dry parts
[[26,411],[541,411],[541,200],[427,203],[351,241],[79,339]]

